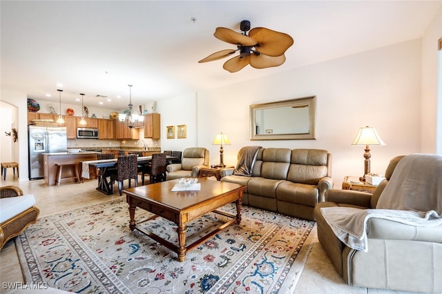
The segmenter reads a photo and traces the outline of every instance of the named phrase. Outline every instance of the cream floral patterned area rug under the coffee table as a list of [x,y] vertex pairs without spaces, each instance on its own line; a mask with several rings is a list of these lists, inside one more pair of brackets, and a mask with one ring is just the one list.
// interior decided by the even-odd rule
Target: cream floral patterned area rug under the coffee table
[[[220,210],[236,213],[232,204]],[[137,222],[150,216],[138,208],[135,213]],[[25,282],[75,293],[289,293],[305,265],[307,255],[298,255],[314,226],[243,206],[240,225],[177,262],[176,253],[131,232],[128,220],[125,199],[39,219],[16,238]],[[215,213],[195,220],[186,242],[221,221]],[[142,226],[177,244],[175,224],[158,217]]]

